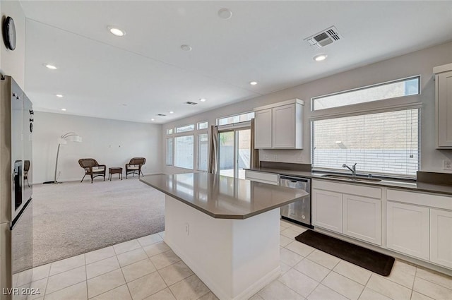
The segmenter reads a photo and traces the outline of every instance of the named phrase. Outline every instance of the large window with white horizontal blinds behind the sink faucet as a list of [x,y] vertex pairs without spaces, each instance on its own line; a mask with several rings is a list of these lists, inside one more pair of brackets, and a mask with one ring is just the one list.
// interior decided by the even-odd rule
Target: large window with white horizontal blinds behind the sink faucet
[[312,121],[314,169],[415,176],[420,162],[419,109]]

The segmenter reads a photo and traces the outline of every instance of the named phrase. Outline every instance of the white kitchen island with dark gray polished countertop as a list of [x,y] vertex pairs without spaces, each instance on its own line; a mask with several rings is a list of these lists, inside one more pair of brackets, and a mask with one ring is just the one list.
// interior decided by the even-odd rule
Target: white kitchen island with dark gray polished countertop
[[249,299],[280,275],[279,208],[308,193],[208,173],[150,175],[165,243],[218,296]]

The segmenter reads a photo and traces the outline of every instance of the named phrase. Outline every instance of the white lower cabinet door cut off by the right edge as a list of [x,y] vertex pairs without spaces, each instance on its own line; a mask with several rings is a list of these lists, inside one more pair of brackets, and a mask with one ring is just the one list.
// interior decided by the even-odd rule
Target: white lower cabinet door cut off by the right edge
[[430,260],[452,268],[452,211],[430,209]]

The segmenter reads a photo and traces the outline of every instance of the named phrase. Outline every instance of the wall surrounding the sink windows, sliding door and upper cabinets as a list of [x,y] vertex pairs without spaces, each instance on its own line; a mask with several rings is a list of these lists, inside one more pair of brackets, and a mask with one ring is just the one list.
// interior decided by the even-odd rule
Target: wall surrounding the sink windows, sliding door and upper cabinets
[[[328,58],[329,59],[329,58]],[[333,57],[331,57],[333,59]],[[442,160],[452,160],[452,150],[435,149],[435,126],[434,126],[434,80],[432,68],[442,64],[452,62],[452,42],[430,47],[393,59],[380,61],[350,71],[338,73],[333,76],[297,85],[269,95],[255,97],[250,100],[236,102],[225,107],[213,109],[209,112],[190,116],[162,126],[162,150],[165,157],[165,131],[167,128],[180,126],[197,121],[209,121],[215,124],[215,119],[220,116],[228,116],[241,112],[249,112],[254,107],[299,98],[305,101],[304,109],[304,150],[260,150],[260,157],[268,157],[269,161],[311,163],[311,140],[309,118],[313,116],[311,112],[311,97],[326,95],[333,92],[350,90],[375,83],[383,83],[398,78],[409,76],[421,76],[421,95],[418,100],[422,102],[421,110],[421,169],[423,171],[444,172],[442,170]],[[327,61],[325,61],[328,64]],[[319,64],[319,68],[321,68]],[[277,158],[275,159],[275,155]],[[186,172],[184,169],[165,166],[165,173]]]

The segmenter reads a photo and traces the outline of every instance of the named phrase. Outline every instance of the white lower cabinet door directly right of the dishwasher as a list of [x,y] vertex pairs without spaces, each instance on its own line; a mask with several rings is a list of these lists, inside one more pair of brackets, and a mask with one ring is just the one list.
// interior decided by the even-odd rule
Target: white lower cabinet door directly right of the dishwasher
[[312,189],[312,224],[342,233],[342,193]]

